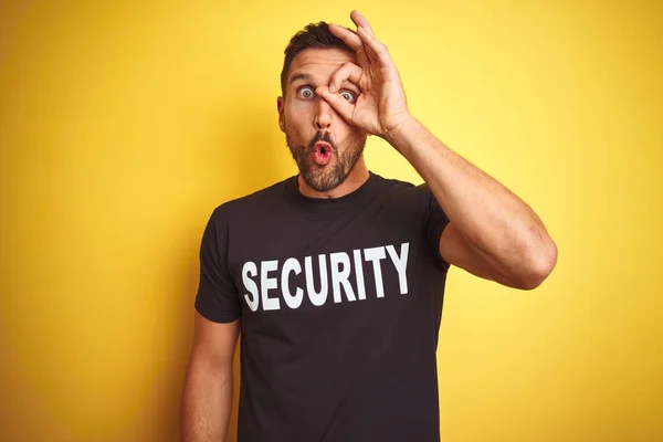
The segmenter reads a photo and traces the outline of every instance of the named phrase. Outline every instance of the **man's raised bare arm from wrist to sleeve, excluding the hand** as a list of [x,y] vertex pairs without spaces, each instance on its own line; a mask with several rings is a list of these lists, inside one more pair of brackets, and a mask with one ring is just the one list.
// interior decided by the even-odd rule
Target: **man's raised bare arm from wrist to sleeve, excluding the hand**
[[390,138],[450,219],[440,238],[449,263],[514,288],[541,284],[555,267],[557,246],[527,203],[414,119]]

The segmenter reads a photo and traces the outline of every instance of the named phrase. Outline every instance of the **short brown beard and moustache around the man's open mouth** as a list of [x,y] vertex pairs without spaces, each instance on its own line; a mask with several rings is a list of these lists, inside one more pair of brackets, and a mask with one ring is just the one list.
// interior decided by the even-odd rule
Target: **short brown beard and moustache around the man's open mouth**
[[[285,140],[304,182],[318,192],[328,192],[341,185],[355,168],[366,146],[366,136],[364,136],[354,145],[339,151],[328,131],[316,133],[308,146],[293,144],[287,134]],[[317,141],[325,141],[332,146],[332,161],[326,166],[318,166],[313,159],[314,146]]]

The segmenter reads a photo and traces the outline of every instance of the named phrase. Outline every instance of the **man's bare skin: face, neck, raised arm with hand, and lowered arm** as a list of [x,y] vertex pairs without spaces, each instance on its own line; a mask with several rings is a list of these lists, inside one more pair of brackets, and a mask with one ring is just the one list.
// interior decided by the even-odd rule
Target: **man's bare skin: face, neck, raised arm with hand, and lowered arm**
[[[301,171],[307,171],[306,179],[299,176],[299,191],[312,198],[339,198],[357,190],[369,177],[362,156],[366,136],[381,137],[417,169],[449,217],[439,244],[449,263],[509,287],[538,287],[557,262],[557,246],[541,220],[410,114],[389,51],[359,12],[350,18],[356,32],[334,24],[329,29],[355,53],[303,51],[291,65],[285,96],[277,99],[280,127]],[[302,93],[305,86],[313,94]],[[354,93],[350,99],[348,93]],[[318,134],[328,135],[333,150],[326,166],[316,165],[311,154]],[[182,441],[224,440],[239,333],[239,320],[215,324],[196,313]]]

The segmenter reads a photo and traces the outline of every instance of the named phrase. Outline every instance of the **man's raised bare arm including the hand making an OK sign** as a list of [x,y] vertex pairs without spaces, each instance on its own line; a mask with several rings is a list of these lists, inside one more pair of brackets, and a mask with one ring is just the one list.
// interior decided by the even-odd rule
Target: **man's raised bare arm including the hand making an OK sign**
[[[379,136],[417,169],[450,219],[440,252],[451,264],[503,285],[537,287],[557,262],[557,246],[537,214],[516,194],[438,140],[407,106],[399,72],[368,21],[350,14],[357,31],[329,30],[357,54],[319,86],[349,124]],[[338,94],[344,82],[360,91],[354,103]]]

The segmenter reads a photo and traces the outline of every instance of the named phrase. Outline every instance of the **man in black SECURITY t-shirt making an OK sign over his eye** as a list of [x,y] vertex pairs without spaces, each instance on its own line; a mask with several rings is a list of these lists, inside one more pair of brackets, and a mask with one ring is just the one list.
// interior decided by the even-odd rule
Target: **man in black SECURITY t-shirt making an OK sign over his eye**
[[[451,264],[520,290],[557,260],[533,210],[408,110],[358,12],[285,52],[278,124],[299,173],[217,208],[203,234],[182,440],[439,441],[435,350]],[[425,185],[369,172],[367,135]]]

